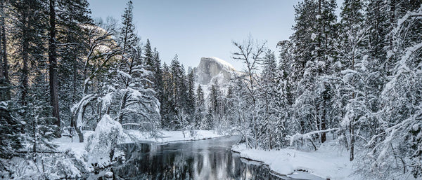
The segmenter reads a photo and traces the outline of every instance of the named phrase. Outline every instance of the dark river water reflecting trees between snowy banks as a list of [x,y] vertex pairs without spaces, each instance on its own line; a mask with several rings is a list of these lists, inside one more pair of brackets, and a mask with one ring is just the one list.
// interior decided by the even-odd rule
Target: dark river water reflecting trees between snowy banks
[[231,152],[239,137],[168,144],[123,144],[126,160],[107,171],[114,179],[293,179]]

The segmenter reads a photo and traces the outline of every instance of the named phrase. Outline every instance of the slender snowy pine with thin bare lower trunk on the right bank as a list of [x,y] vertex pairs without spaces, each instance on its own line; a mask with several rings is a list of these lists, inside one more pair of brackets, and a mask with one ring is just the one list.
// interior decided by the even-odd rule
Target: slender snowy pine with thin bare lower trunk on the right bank
[[[355,71],[357,65],[365,67],[367,62],[362,60],[366,51],[363,48],[363,43],[366,39],[366,29],[364,29],[364,15],[363,3],[361,1],[345,1],[342,7],[343,11],[340,13],[341,17],[341,41],[340,41],[340,64],[345,68],[342,71],[344,84],[348,92],[344,93],[345,103],[345,116],[340,123],[343,127],[347,126],[350,135],[350,161],[354,160],[354,144],[356,141],[354,130],[357,129],[355,126],[358,125],[357,120],[362,117],[366,117],[363,111],[359,109],[366,109],[366,103],[362,100],[366,100],[364,95],[359,94],[362,90],[359,90],[365,79],[361,77],[368,77],[368,72]],[[341,75],[339,75],[341,76]]]

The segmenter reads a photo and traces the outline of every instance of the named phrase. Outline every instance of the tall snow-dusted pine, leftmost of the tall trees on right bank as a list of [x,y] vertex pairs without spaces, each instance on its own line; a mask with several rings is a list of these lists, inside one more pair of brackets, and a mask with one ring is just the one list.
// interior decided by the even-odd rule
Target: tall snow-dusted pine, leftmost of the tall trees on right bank
[[[302,71],[296,86],[296,99],[293,105],[294,119],[299,132],[326,130],[326,116],[330,113],[327,102],[330,96],[318,86],[319,78],[331,74],[328,67],[335,60],[333,42],[335,39],[335,1],[303,1],[295,6],[295,33],[290,37],[295,43],[295,61],[302,65]],[[297,74],[297,73],[295,73]],[[321,142],[326,141],[326,132],[320,134]]]

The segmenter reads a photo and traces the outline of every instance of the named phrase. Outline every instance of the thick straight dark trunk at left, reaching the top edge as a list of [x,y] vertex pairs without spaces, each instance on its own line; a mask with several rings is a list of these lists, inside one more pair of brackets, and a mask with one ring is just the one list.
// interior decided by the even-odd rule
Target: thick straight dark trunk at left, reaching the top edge
[[53,106],[53,117],[56,118],[58,131],[56,136],[60,137],[60,115],[58,111],[58,80],[57,80],[57,59],[56,59],[56,10],[55,2],[50,0],[50,39],[49,39],[49,78],[50,78],[50,104]]

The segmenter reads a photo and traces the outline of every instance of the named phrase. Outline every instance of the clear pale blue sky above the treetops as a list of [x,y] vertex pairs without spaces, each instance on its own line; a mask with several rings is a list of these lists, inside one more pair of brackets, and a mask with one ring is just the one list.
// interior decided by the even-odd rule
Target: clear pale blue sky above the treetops
[[[111,16],[121,20],[127,1],[88,0],[93,18]],[[196,67],[200,57],[219,57],[242,69],[231,59],[236,50],[231,41],[243,41],[249,34],[276,43],[293,33],[293,6],[300,0],[133,0],[136,32],[143,43],[160,52],[162,62],[175,54],[185,68]],[[338,6],[341,4],[338,2]]]

